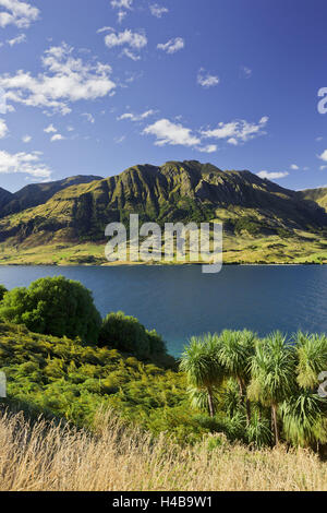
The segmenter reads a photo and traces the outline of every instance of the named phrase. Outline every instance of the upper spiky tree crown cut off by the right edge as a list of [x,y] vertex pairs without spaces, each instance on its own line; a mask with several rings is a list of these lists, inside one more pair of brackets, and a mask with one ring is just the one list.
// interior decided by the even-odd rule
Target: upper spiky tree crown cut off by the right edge
[[327,337],[299,332],[294,338],[298,357],[298,383],[304,389],[318,386],[318,375],[327,370]]

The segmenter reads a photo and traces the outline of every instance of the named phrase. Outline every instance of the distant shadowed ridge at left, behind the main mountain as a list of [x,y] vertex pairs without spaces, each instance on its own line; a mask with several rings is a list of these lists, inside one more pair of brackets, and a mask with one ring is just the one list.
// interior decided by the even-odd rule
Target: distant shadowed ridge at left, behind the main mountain
[[[101,180],[101,177],[78,175],[58,181],[33,183],[24,187],[14,194],[0,189],[0,217],[15,214],[26,208],[46,203],[57,192],[66,189],[68,187],[78,183],[89,183],[95,180]],[[4,194],[4,198],[1,201],[2,191],[7,194]]]

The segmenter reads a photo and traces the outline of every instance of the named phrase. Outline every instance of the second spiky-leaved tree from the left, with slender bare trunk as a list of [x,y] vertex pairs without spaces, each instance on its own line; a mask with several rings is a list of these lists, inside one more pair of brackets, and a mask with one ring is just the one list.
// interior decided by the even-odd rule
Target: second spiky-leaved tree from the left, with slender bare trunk
[[220,335],[218,357],[227,375],[239,383],[240,397],[246,409],[247,425],[251,420],[246,386],[251,379],[251,358],[254,355],[256,335],[249,330],[225,330]]

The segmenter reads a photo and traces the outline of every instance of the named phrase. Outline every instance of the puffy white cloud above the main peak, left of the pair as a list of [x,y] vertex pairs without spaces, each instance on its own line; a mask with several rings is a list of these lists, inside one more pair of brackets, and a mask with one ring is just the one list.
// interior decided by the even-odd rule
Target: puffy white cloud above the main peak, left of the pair
[[159,119],[154,124],[149,124],[143,131],[148,135],[155,135],[157,141],[156,146],[182,145],[182,146],[196,146],[201,140],[192,134],[192,130],[184,128],[182,124],[172,123],[168,119]]

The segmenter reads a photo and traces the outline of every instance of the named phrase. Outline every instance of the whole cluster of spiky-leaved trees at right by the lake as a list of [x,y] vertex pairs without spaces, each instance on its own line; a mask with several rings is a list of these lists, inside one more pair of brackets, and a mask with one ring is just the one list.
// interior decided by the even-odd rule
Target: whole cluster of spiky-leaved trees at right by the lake
[[[191,341],[181,368],[193,385],[192,406],[213,416],[211,405],[223,395],[221,409],[235,438],[256,445],[282,438],[315,448],[327,442],[327,401],[317,394],[326,350],[325,335],[298,333],[287,341],[276,332],[258,339],[246,330],[225,331]],[[229,381],[217,390],[223,377]]]

